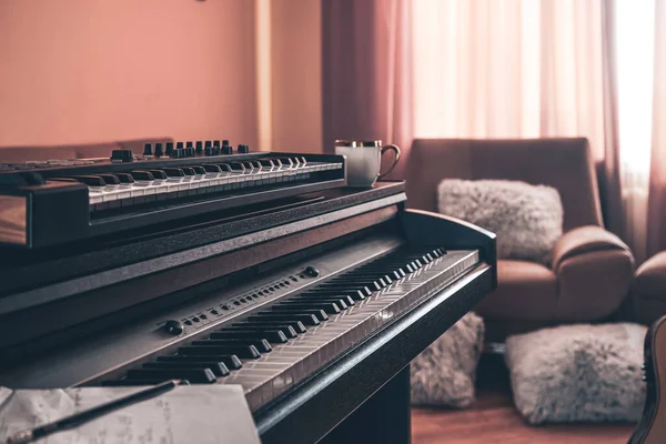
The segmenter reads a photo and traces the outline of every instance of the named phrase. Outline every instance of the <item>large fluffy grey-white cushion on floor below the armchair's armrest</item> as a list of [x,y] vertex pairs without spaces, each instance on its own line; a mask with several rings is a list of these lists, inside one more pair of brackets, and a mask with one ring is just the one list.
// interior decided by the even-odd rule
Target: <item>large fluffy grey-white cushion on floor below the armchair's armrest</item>
[[516,408],[529,424],[637,421],[646,332],[632,323],[577,324],[507,337]]

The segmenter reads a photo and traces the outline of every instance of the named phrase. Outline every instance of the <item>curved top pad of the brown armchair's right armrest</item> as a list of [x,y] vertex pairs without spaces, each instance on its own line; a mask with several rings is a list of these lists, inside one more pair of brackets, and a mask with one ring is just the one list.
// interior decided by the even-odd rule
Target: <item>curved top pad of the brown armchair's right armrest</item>
[[573,256],[596,251],[629,248],[615,234],[597,225],[578,226],[567,231],[553,246],[553,272],[557,274],[562,263]]

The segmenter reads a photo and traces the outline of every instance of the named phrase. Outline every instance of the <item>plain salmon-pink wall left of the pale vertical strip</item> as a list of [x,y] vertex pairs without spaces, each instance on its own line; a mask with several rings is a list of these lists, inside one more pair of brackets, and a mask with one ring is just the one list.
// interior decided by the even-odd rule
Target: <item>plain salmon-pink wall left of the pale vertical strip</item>
[[171,135],[256,145],[254,2],[0,2],[0,147]]

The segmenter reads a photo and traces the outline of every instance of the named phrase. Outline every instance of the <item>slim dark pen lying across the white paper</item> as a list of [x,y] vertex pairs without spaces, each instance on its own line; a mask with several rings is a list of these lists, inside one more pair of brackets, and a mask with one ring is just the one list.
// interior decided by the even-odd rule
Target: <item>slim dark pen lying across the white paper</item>
[[97,407],[89,408],[84,412],[74,413],[71,416],[63,417],[62,420],[40,425],[39,427],[32,430],[17,432],[12,436],[10,436],[9,440],[7,440],[7,444],[29,443],[31,441],[39,440],[56,432],[62,432],[65,430],[78,427],[79,425],[98,418],[102,415],[105,415],[107,413],[111,413],[130,404],[158,396],[164,392],[170,391],[171,389],[175,387],[181,383],[188,384],[186,381],[168,381],[162,384],[155,385],[154,387],[132,393],[131,395],[121,397],[119,400],[109,401],[105,404],[98,405]]

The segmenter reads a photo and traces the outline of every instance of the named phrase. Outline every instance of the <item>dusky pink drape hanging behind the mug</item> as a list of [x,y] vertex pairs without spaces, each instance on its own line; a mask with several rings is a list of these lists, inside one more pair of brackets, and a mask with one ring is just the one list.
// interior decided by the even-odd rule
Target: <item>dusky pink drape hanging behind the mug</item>
[[382,139],[406,154],[413,123],[410,3],[322,1],[325,152],[333,152],[335,139]]

